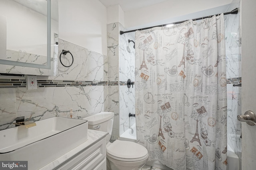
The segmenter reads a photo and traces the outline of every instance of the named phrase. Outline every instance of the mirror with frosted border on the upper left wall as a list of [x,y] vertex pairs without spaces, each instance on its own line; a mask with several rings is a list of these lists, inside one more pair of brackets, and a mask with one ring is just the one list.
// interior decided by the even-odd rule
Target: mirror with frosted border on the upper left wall
[[58,0],[0,1],[0,72],[55,76]]

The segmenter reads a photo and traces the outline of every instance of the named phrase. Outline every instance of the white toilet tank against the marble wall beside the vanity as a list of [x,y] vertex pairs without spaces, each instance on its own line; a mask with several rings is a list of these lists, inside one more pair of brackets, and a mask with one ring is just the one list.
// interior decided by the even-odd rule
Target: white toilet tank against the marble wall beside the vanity
[[113,112],[100,112],[94,115],[83,118],[88,121],[88,129],[96,131],[108,132],[106,136],[106,143],[110,140],[113,123],[114,113]]

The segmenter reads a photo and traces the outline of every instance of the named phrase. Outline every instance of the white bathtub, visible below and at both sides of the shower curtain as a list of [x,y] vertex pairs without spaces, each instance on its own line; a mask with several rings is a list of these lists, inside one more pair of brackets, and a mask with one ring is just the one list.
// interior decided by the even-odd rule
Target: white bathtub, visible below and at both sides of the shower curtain
[[[119,140],[132,141],[137,143],[136,124],[134,123],[134,125],[132,125],[130,128],[126,130],[122,135],[120,135]],[[133,129],[133,133],[132,133],[132,129]],[[239,170],[239,158],[229,145],[227,146],[227,160],[228,160],[227,170]],[[164,169],[164,170],[172,170],[171,168],[163,165],[158,160],[148,161],[146,165],[153,166],[155,168]]]

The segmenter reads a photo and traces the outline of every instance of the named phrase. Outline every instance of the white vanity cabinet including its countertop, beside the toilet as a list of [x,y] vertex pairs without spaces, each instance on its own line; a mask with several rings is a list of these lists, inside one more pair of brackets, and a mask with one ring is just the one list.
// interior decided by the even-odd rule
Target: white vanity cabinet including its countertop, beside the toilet
[[106,135],[107,132],[88,129],[87,141],[40,170],[106,170]]

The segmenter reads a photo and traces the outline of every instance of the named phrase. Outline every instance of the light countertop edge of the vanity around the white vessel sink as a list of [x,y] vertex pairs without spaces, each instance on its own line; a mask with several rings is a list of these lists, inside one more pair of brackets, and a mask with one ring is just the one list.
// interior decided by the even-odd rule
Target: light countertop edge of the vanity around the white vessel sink
[[79,145],[78,147],[70,150],[66,154],[60,156],[59,158],[55,159],[54,161],[50,162],[46,166],[40,168],[40,170],[50,170],[58,165],[62,164],[66,160],[70,159],[72,156],[78,154],[82,150],[88,149],[90,146],[92,146],[94,143],[100,141],[102,138],[106,137],[108,135],[107,132],[102,132],[102,131],[95,131],[88,129],[88,140]]

